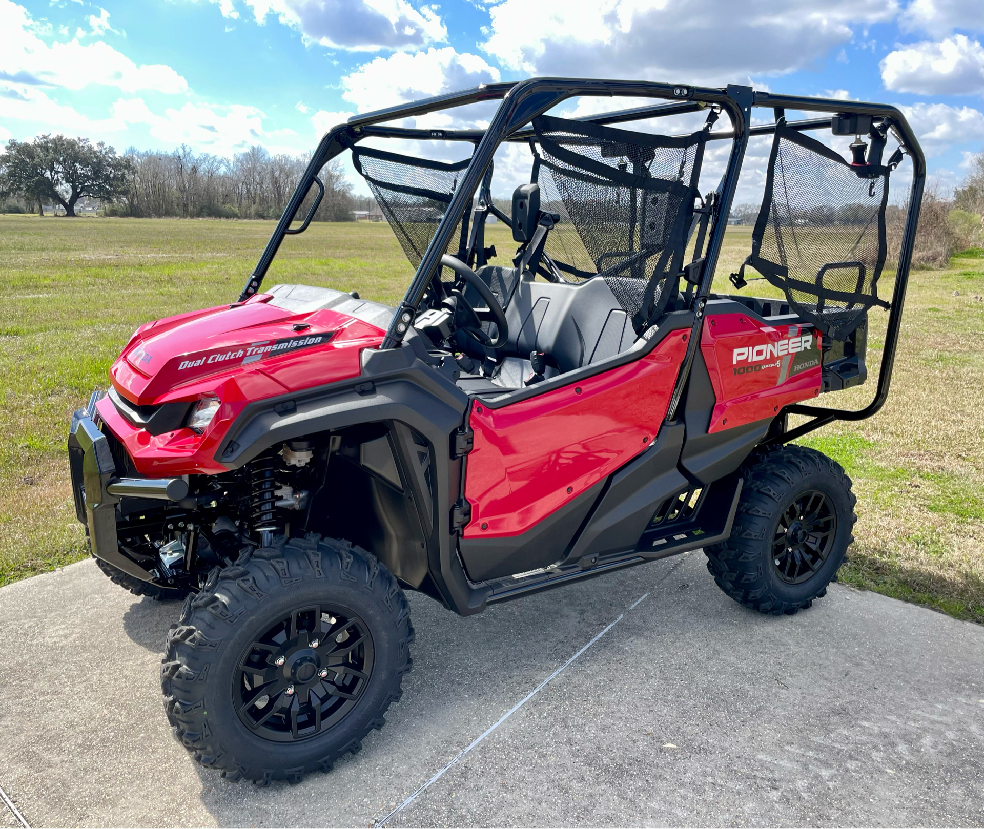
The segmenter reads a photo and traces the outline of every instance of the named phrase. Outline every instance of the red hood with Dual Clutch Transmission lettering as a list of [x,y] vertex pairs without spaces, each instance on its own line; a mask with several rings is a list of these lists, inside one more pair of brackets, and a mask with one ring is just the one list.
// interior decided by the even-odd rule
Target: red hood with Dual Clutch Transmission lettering
[[339,291],[277,285],[243,304],[141,326],[110,377],[137,405],[227,398],[220,386],[230,381],[245,399],[324,385],[359,374],[359,353],[379,345],[388,317],[392,309]]

